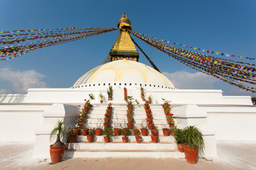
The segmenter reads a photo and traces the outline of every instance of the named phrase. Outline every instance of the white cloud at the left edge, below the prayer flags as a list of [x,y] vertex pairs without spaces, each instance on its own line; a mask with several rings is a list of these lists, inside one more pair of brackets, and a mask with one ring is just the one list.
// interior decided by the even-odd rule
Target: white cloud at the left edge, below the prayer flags
[[4,81],[1,82],[1,85],[11,84],[11,86],[5,89],[0,89],[0,93],[2,94],[25,94],[28,88],[46,87],[46,83],[44,81],[41,81],[46,76],[36,72],[33,69],[20,72],[14,71],[10,68],[1,68],[0,73],[0,80]]

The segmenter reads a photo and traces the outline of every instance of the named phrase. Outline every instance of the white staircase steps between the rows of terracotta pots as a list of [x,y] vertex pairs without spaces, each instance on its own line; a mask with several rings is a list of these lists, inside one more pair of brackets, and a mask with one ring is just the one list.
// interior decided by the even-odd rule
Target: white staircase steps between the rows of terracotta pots
[[[100,119],[104,120],[107,104],[94,104],[89,112],[89,118],[85,122],[85,127],[96,128]],[[126,128],[127,106],[126,104],[112,105],[112,128]],[[150,105],[154,124],[159,130],[159,142],[151,142],[151,132],[148,130],[147,136],[142,136],[142,142],[137,143],[134,135],[129,135],[128,142],[122,142],[122,135],[112,136],[109,143],[104,142],[104,135],[96,136],[94,142],[87,142],[87,137],[79,135],[75,143],[67,143],[64,157],[151,157],[151,158],[181,158],[183,153],[178,152],[174,137],[164,136],[162,128],[168,127],[164,110],[159,104]],[[134,106],[134,127],[142,128],[146,126],[146,112],[144,105]],[[166,127],[164,127],[166,126]]]

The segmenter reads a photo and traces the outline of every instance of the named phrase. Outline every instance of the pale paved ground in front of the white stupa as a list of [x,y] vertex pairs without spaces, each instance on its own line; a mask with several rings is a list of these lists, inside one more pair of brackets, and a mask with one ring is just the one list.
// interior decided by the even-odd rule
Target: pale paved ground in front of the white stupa
[[67,159],[50,164],[50,159],[32,159],[31,142],[0,142],[0,169],[256,169],[256,141],[218,141],[217,147],[218,158],[199,159],[196,165],[186,163],[185,158]]

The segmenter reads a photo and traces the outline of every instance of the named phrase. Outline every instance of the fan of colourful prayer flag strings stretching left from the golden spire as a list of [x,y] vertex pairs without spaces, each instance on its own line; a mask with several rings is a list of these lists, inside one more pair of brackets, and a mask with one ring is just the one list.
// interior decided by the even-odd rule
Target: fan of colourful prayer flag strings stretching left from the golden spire
[[[8,33],[7,35],[0,34],[0,37],[3,37],[0,39],[0,45],[9,45],[0,46],[0,60],[10,60],[24,55],[31,50],[80,40],[113,30],[118,30],[118,28],[58,28],[0,31],[0,33]],[[9,55],[12,57],[9,57]]]

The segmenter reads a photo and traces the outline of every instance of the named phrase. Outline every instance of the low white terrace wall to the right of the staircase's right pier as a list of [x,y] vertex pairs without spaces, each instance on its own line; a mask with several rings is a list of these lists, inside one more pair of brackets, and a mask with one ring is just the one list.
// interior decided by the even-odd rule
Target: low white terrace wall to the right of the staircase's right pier
[[256,140],[256,107],[204,109],[216,140]]

